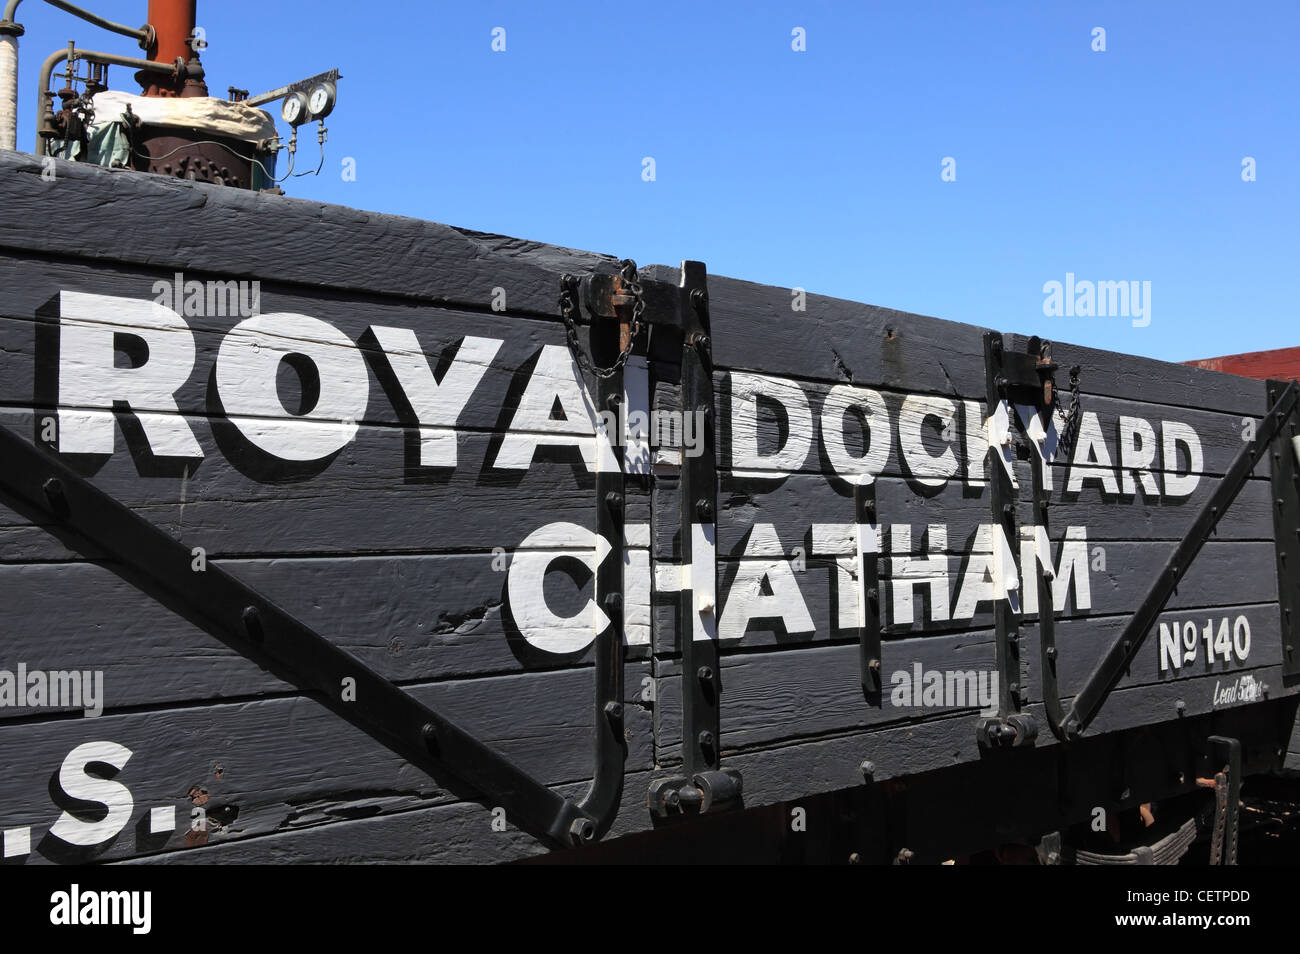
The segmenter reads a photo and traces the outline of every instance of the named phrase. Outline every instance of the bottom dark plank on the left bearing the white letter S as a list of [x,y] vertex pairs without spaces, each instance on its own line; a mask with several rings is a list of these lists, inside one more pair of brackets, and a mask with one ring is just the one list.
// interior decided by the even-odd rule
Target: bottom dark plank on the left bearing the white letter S
[[[636,675],[636,667],[629,675]],[[546,784],[578,782],[590,775],[590,669],[422,684],[407,691]],[[625,712],[628,769],[649,769],[649,714],[634,701]],[[57,777],[69,754],[88,742],[129,750],[114,781],[129,790],[131,810],[129,823],[114,818],[117,824],[105,825],[114,831],[90,831],[83,837],[91,844],[73,847],[64,844],[66,838],[47,836],[61,808],[60,802],[52,803],[57,789],[47,780],[52,773]],[[108,860],[159,850],[168,838],[150,834],[148,810],[174,808],[176,824],[183,825],[192,808],[186,793],[195,788],[207,790],[203,807],[209,818],[228,819],[222,840],[291,831],[299,823],[478,799],[450,776],[425,776],[298,695],[0,725],[0,764],[10,780],[0,803],[0,828],[31,828],[35,854],[27,863]],[[81,777],[81,766],[69,775]],[[124,801],[120,790],[113,793]],[[491,805],[477,807],[488,814]],[[181,829],[168,829],[176,831]]]

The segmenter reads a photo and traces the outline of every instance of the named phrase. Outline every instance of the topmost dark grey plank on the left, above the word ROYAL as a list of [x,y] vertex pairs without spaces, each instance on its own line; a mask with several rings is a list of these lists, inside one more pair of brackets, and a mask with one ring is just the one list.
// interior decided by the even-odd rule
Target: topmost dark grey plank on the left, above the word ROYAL
[[[56,160],[56,187],[35,156],[0,156],[0,247],[191,269],[339,291],[555,315],[564,272],[612,270],[610,256],[488,235],[402,216]],[[183,242],[157,222],[186,222]],[[112,229],[86,222],[110,221]],[[40,229],[32,229],[40,222]],[[269,224],[273,227],[268,227]],[[130,242],[124,242],[124,235]],[[285,242],[286,235],[302,237]]]

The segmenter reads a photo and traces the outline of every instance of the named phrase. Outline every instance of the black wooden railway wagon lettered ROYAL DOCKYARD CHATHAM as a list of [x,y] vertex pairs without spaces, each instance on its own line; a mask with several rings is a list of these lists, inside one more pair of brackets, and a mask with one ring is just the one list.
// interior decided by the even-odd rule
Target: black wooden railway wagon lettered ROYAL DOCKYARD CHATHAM
[[48,168],[10,863],[1231,860],[1300,769],[1294,382]]

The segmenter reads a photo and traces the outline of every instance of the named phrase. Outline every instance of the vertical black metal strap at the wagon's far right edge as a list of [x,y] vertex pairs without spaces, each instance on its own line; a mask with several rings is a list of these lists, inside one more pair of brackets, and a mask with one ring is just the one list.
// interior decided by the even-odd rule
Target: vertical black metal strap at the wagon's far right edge
[[[1295,387],[1291,382],[1291,387]],[[1269,381],[1269,400],[1287,387]],[[1292,413],[1269,445],[1273,538],[1278,550],[1278,603],[1282,611],[1282,676],[1300,676],[1300,415]]]

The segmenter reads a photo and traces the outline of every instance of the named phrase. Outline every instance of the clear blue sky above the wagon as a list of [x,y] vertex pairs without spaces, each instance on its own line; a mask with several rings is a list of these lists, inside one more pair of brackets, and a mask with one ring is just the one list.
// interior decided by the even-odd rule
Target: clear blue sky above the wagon
[[[48,52],[139,52],[40,0],[18,19],[30,148]],[[1300,344],[1295,0],[199,0],[199,23],[217,95],[343,71],[292,195],[1169,360]],[[1149,281],[1150,325],[1045,317],[1067,272]]]

